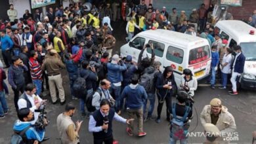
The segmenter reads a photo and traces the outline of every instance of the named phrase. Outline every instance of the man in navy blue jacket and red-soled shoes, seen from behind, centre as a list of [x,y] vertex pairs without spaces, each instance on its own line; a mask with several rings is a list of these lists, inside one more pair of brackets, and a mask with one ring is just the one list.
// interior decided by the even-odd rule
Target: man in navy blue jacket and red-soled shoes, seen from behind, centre
[[[140,86],[138,82],[139,75],[133,75],[133,77],[131,77],[131,84],[125,86],[125,89],[121,94],[121,98],[126,98],[129,118],[135,118],[135,115],[138,118],[138,135],[144,136],[146,135],[146,132],[143,131],[143,103],[146,101],[148,96],[144,87]],[[133,122],[130,122],[127,126],[126,132],[130,136],[133,135]]]

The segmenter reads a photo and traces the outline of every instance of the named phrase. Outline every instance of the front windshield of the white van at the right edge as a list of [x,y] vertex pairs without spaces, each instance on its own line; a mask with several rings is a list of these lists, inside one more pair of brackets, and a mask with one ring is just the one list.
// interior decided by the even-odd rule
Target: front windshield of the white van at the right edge
[[245,60],[256,61],[256,43],[240,43]]

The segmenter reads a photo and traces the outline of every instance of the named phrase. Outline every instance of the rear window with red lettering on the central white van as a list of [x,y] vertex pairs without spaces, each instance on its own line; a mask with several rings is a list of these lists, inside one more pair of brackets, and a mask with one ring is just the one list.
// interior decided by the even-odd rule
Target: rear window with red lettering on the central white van
[[210,58],[210,48],[209,46],[200,46],[194,48],[189,52],[189,65],[203,62]]

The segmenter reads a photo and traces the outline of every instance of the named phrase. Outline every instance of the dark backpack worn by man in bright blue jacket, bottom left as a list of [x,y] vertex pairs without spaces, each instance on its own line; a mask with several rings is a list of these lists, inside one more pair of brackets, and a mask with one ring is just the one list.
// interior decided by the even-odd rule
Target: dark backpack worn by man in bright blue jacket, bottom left
[[24,141],[24,139],[26,139],[25,133],[30,128],[31,128],[31,126],[28,126],[27,128],[25,128],[21,132],[16,132],[14,130],[14,134],[12,134],[12,137],[11,137],[11,144],[26,144],[26,141]]

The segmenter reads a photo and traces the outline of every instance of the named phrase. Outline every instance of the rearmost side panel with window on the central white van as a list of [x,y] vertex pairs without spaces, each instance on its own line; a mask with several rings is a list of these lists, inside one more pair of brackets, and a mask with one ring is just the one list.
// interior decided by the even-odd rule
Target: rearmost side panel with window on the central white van
[[178,48],[176,46],[168,46],[167,52],[164,56],[163,67],[171,66],[173,67],[175,81],[177,86],[181,83],[181,75],[183,72],[184,67],[183,65],[183,58],[184,58],[184,50]]

